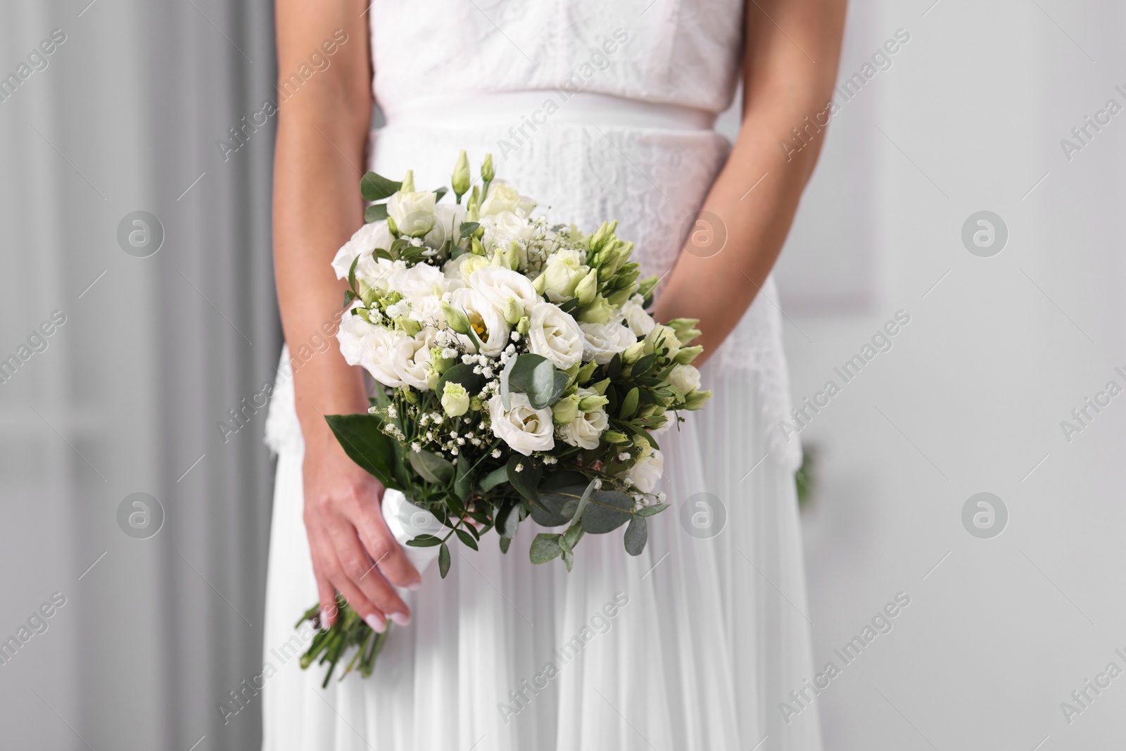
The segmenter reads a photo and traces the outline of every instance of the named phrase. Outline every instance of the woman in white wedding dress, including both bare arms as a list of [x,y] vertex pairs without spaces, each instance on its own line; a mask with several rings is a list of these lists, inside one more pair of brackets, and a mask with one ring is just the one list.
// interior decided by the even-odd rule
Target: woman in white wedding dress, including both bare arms
[[[843,16],[844,0],[277,0],[279,80],[303,83],[275,162],[288,350],[267,424],[265,749],[821,748],[770,269],[824,137],[810,118]],[[731,144],[712,126],[739,80]],[[386,125],[369,133],[373,101]],[[461,149],[555,217],[618,218],[662,277],[655,318],[700,320],[716,395],[661,438],[673,508],[641,556],[610,534],[583,539],[571,573],[533,566],[527,534],[503,561],[483,544],[445,581],[420,575],[324,422],[367,408],[361,370],[313,351],[339,320],[330,261],[363,224],[360,175],[443,185]],[[321,689],[294,622],[336,592],[397,627],[372,678]]]

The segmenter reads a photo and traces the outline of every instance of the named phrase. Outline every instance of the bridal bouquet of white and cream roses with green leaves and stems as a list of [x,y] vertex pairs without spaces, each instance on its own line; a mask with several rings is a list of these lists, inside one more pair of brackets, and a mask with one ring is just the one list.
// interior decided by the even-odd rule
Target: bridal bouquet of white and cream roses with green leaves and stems
[[[475,551],[492,529],[507,553],[529,517],[565,526],[536,535],[533,563],[561,557],[570,571],[583,535],[623,525],[638,555],[646,519],[668,507],[655,435],[712,396],[691,365],[697,321],[646,313],[656,278],[638,281],[616,222],[592,234],[551,224],[493,178],[490,155],[471,186],[464,151],[454,202],[415,189],[411,172],[364,176],[375,203],[332,261],[349,287],[337,338],[378,386],[367,414],[327,419],[387,489],[384,517],[420,571],[437,555],[445,578],[449,544]],[[387,633],[338,600],[302,659],[330,663],[325,685],[351,647],[345,674],[370,674]],[[302,620],[322,625],[319,614]]]

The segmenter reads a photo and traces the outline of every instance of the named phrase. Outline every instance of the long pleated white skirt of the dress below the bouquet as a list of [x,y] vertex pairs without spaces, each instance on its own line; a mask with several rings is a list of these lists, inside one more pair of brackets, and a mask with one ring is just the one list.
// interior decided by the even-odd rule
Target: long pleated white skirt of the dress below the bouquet
[[300,433],[276,442],[263,749],[819,751],[816,707],[779,710],[814,673],[793,472],[768,453],[758,376],[709,369],[715,399],[660,437],[672,508],[641,556],[622,528],[587,535],[570,573],[536,566],[530,521],[507,556],[492,534],[458,546],[408,593],[375,674],[327,689],[294,641],[316,601]]

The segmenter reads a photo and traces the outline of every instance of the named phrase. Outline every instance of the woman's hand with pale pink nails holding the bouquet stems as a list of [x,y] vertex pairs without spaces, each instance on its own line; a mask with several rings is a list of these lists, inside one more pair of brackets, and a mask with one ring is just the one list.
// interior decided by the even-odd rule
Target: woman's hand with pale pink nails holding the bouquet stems
[[306,436],[304,516],[322,625],[336,620],[339,591],[376,633],[386,618],[405,626],[410,609],[388,580],[415,589],[421,578],[383,520],[383,486],[348,458],[328,427],[315,433]]

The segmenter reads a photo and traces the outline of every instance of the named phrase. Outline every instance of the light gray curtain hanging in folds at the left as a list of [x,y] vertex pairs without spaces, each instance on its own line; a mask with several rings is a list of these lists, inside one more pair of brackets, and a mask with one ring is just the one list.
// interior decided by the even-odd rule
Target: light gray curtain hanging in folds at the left
[[271,3],[0,14],[0,746],[254,748]]

